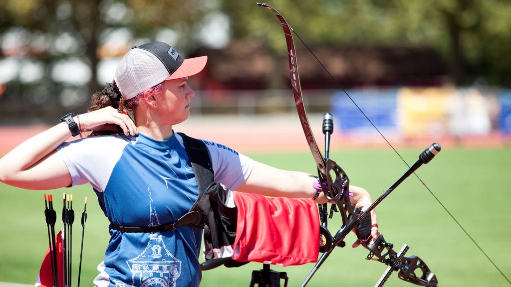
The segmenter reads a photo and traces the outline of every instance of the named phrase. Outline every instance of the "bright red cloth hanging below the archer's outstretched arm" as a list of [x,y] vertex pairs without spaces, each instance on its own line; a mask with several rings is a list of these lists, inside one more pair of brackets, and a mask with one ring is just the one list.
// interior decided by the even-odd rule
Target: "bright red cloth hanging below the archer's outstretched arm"
[[233,194],[238,207],[233,259],[282,266],[317,261],[319,215],[312,199]]

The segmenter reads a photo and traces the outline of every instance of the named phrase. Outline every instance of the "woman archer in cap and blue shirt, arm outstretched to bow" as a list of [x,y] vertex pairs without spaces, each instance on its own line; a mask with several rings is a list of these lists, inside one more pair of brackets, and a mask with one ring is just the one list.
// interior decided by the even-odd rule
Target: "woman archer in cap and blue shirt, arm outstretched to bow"
[[[195,202],[198,187],[183,138],[172,127],[190,116],[194,92],[188,79],[199,73],[206,61],[205,56],[183,59],[163,42],[133,47],[119,63],[112,84],[92,96],[87,113],[65,115],[61,123],[0,159],[0,181],[34,190],[89,183],[112,224],[174,222]],[[123,108],[132,113],[134,121],[127,112],[119,112],[125,111]],[[83,131],[92,133],[66,142]],[[288,198],[313,198],[317,193],[313,187],[317,181],[309,174],[275,169],[218,145],[207,145],[207,151],[215,180],[231,190]],[[353,205],[370,205],[366,190],[350,189]],[[321,195],[315,201],[327,200]],[[374,212],[371,221],[371,236],[376,238]],[[166,254],[172,255],[166,260],[179,263],[166,271],[171,274],[167,285],[199,285],[201,229],[183,226],[161,232],[156,239],[148,232],[124,233],[113,228],[110,234],[96,286],[142,285],[138,277],[147,265],[140,262],[161,262]],[[148,241],[154,239],[165,250],[153,252],[152,257],[144,255]]]

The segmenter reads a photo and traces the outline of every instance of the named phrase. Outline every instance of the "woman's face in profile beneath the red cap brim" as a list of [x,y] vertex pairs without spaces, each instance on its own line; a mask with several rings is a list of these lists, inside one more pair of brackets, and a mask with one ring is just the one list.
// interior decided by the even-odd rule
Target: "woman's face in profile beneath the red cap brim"
[[165,81],[161,94],[157,96],[157,112],[160,122],[179,124],[190,116],[190,99],[195,95],[187,78]]

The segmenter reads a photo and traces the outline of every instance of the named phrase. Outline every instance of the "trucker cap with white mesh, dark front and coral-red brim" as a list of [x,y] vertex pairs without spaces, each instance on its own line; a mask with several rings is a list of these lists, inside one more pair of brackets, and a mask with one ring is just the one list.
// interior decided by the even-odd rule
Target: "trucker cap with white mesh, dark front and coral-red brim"
[[183,59],[169,44],[150,42],[133,46],[124,55],[113,80],[128,100],[163,81],[193,76],[206,62],[207,56]]

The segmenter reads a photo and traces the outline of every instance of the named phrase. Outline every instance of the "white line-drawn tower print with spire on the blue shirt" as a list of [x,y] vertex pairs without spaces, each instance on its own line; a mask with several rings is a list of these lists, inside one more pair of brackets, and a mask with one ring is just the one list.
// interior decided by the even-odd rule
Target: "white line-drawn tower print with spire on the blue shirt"
[[[151,189],[149,193],[149,226],[160,225],[153,207]],[[156,224],[154,224],[156,223]],[[149,242],[144,251],[135,258],[126,261],[131,271],[132,285],[141,287],[175,286],[181,275],[181,261],[178,260],[165,246],[159,232],[150,234]]]

